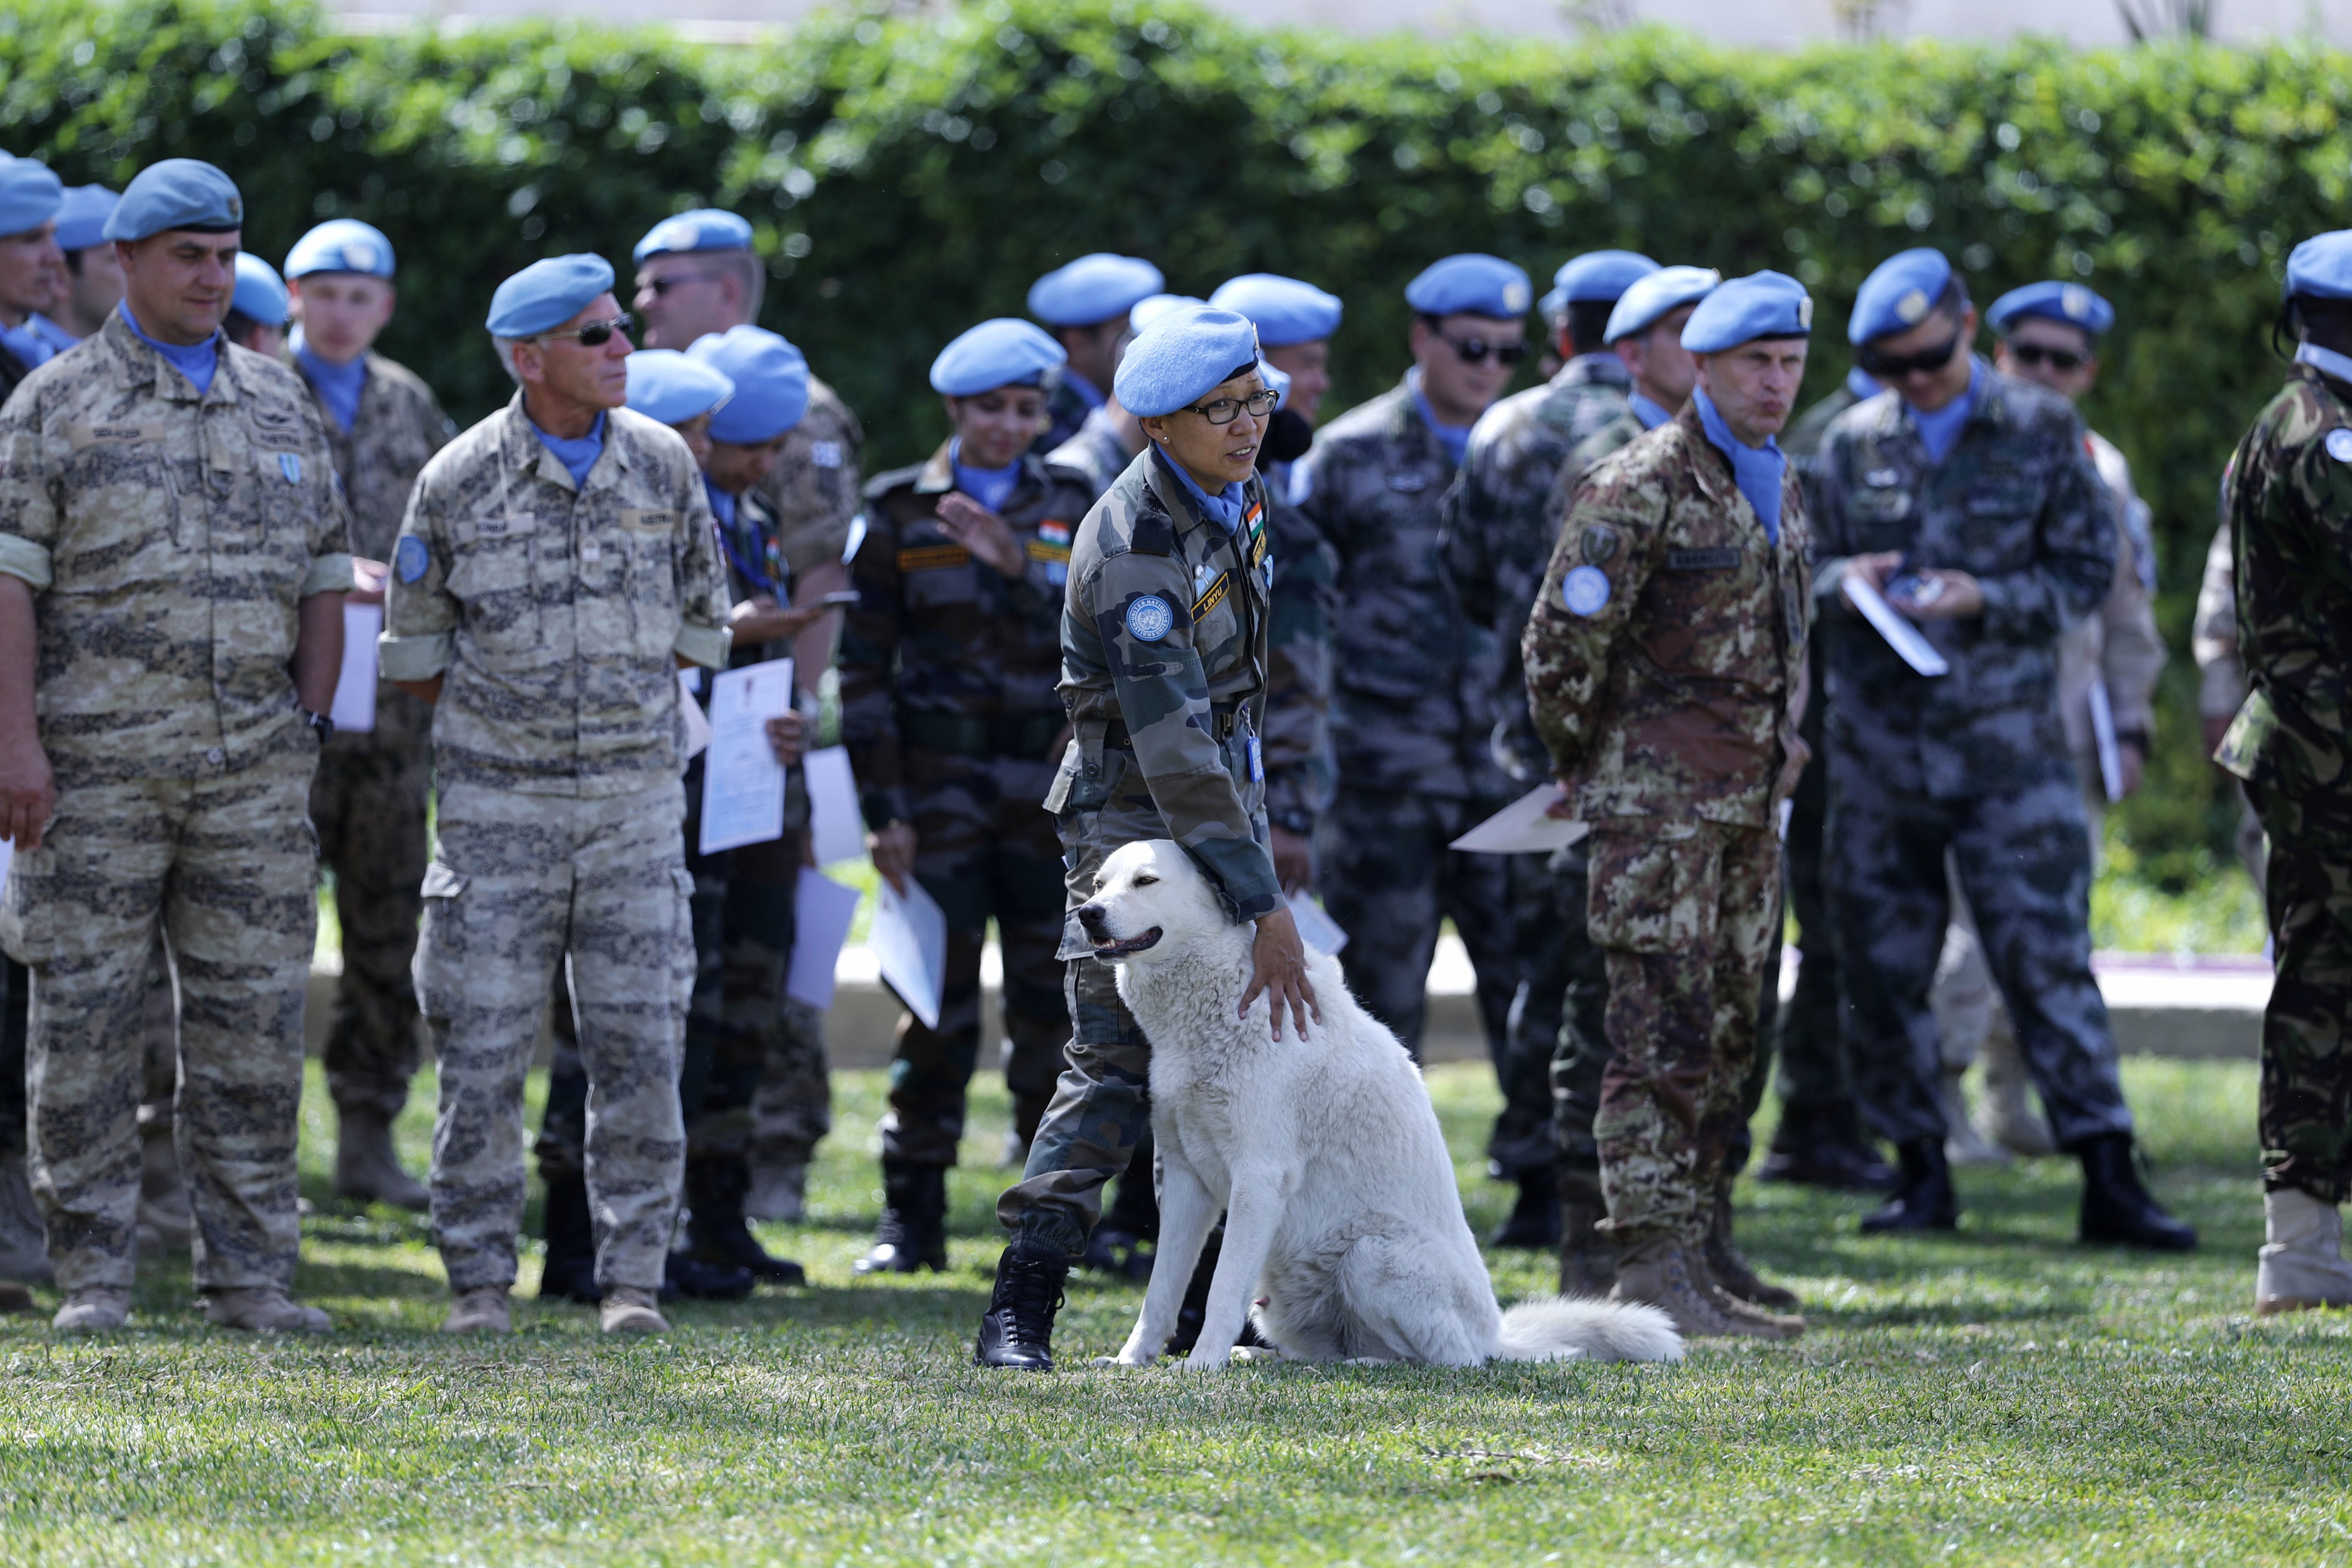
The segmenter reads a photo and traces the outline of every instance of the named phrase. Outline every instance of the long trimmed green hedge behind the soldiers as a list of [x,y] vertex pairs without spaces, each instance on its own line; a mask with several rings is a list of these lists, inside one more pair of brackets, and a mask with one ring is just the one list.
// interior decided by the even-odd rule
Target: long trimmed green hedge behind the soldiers
[[701,47],[26,0],[0,14],[0,146],[115,186],[209,158],[270,259],[320,216],[379,223],[402,254],[386,350],[461,418],[506,395],[480,334],[501,275],[555,249],[626,268],[659,216],[736,207],[769,256],[767,320],[858,409],[875,463],[936,440],[936,348],[1089,249],[1152,256],[1185,292],[1279,270],[1341,294],[1345,407],[1402,369],[1402,284],[1444,252],[1538,277],[1602,244],[1795,270],[1828,390],[1863,273],[1940,244],[1980,301],[2060,275],[2117,303],[2089,416],[2154,505],[2176,632],[2220,463],[2279,381],[2284,256],[2352,195],[2352,56],[2300,42],[1733,54],[1661,31],[1275,33],[1129,0],[882,12]]

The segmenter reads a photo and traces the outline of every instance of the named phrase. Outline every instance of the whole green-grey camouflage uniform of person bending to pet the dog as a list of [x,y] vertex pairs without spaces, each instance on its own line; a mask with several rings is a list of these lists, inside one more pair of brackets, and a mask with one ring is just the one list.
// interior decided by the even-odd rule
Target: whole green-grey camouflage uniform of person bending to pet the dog
[[997,1218],[1033,1248],[1084,1248],[1103,1182],[1127,1168],[1150,1119],[1150,1046],[1075,917],[1103,860],[1122,844],[1176,839],[1235,922],[1282,905],[1263,769],[1251,766],[1263,750],[1268,555],[1263,482],[1249,482],[1228,538],[1155,451],[1077,529],[1061,623],[1061,698],[1077,733],[1047,795],[1068,865],[1073,1039],[1028,1171],[997,1199]]

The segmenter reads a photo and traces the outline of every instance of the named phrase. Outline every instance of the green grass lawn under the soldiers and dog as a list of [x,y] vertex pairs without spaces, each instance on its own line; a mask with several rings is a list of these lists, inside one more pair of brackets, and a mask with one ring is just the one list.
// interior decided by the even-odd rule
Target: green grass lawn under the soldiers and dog
[[[313,1079],[301,1293],[341,1333],[254,1342],[186,1265],[132,1333],[0,1321],[7,1563],[2321,1563],[2352,1561],[2352,1321],[2249,1314],[2253,1067],[2129,1065],[2192,1258],[2079,1251],[2072,1168],[1964,1173],[1957,1237],[1863,1241],[1860,1199],[1743,1194],[1804,1291],[1795,1345],[1682,1366],[1087,1366],[1131,1286],[1077,1279],[1051,1378],[981,1373],[1000,1084],[955,1175],[953,1272],[851,1281],[880,1074],[842,1074],[800,1227],[809,1291],[612,1345],[522,1302],[454,1345],[421,1220],[327,1194]],[[1470,1220],[1489,1079],[1432,1074]],[[423,1103],[402,1135],[421,1157]],[[536,1114],[536,1112],[534,1112]],[[1494,1260],[1505,1298],[1541,1258]],[[524,1288],[536,1274],[524,1262]]]

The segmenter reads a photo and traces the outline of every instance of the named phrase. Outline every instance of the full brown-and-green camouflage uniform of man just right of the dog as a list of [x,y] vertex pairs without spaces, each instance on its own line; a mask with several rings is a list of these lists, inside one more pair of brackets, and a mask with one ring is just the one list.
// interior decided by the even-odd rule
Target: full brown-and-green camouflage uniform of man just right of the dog
[[[1609,581],[1588,616],[1562,597],[1581,567]],[[1705,1237],[1748,1119],[1806,616],[1795,473],[1766,543],[1693,407],[1583,475],[1526,623],[1536,729],[1592,823],[1611,1046],[1592,1131],[1628,1251]]]

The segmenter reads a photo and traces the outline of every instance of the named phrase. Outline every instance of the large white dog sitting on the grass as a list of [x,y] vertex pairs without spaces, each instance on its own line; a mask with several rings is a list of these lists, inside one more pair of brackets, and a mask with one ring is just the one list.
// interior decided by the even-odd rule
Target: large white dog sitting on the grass
[[1256,1300],[1258,1333],[1305,1361],[1675,1361],[1656,1307],[1538,1298],[1501,1312],[1470,1237],[1430,1091],[1397,1037],[1312,954],[1322,1020],[1272,1039],[1268,999],[1240,1016],[1251,929],[1167,842],[1103,863],[1077,912],[1152,1044],[1160,1258],[1117,1361],[1150,1366],[1176,1328],[1200,1248],[1225,1248],[1188,1366],[1225,1366]]

